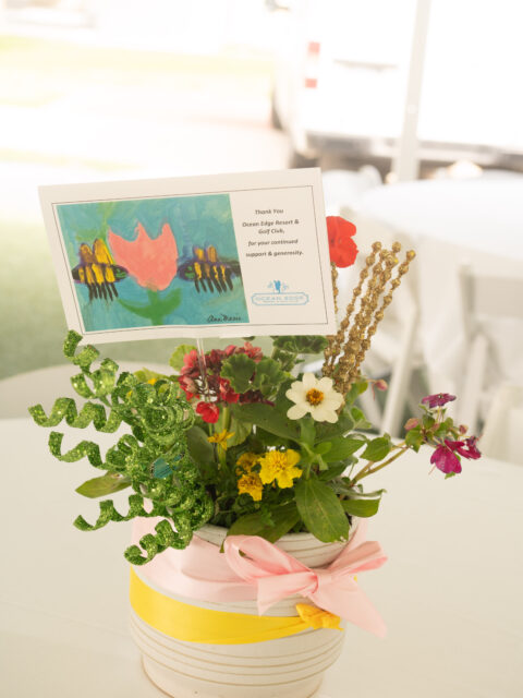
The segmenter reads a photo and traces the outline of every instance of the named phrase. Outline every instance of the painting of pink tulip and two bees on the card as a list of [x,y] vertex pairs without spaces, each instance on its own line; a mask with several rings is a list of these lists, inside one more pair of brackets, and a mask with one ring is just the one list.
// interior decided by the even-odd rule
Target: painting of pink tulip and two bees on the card
[[86,332],[248,322],[229,194],[57,210]]

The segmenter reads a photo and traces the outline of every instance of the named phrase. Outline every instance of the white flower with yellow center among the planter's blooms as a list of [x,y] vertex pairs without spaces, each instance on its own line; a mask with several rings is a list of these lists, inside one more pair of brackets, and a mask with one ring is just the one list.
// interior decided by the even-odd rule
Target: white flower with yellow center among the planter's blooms
[[332,378],[316,378],[314,373],[304,373],[285,395],[295,402],[287,412],[289,419],[300,419],[311,412],[317,422],[333,424],[338,421],[336,410],[343,405],[343,396],[332,387]]

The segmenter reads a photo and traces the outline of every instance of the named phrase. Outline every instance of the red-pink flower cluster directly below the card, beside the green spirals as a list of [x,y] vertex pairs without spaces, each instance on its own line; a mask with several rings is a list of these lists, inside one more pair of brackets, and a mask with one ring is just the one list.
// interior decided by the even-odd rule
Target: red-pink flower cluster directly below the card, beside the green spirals
[[[223,361],[236,353],[244,353],[256,363],[264,358],[259,347],[253,347],[251,342],[246,341],[243,347],[229,345],[226,349],[212,349],[204,357],[198,357],[197,351],[193,349],[183,359],[179,383],[187,400],[199,400],[196,405],[196,412],[204,422],[214,424],[218,421],[220,404],[265,401],[259,390],[235,393],[230,381],[220,375]],[[205,366],[202,366],[200,364],[204,362]],[[202,368],[205,375],[202,375]]]

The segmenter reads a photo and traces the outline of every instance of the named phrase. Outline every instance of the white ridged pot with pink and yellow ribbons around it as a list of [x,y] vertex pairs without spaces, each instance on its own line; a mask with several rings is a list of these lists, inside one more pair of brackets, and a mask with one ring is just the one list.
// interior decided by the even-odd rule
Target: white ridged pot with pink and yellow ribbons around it
[[[354,528],[354,527],[353,527]],[[198,537],[220,546],[226,529],[205,526]],[[332,562],[345,543],[321,543],[311,533],[291,533],[277,545],[309,567]],[[257,615],[255,601],[200,602],[159,589],[178,601],[217,611]],[[265,615],[296,615],[292,597]],[[173,639],[131,611],[131,633],[145,672],[173,698],[309,698],[319,688],[326,669],[338,658],[344,633],[307,629],[296,635],[248,645],[202,645]]]

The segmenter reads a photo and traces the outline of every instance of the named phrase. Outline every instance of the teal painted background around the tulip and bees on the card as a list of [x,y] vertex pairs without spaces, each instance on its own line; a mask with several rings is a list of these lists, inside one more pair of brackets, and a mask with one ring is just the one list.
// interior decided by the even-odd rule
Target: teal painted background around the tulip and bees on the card
[[[80,264],[82,243],[92,246],[98,238],[108,244],[109,229],[133,241],[137,237],[138,222],[153,240],[158,238],[166,222],[170,225],[178,245],[179,268],[185,260],[193,257],[193,245],[206,248],[211,244],[220,260],[238,261],[229,194],[60,204],[57,209],[71,270]],[[84,284],[75,282],[74,289],[87,332],[160,324],[202,325],[208,323],[210,315],[218,317],[221,313],[238,317],[238,322],[248,322],[243,284],[238,276],[233,277],[233,290],[222,293],[216,290],[198,293],[194,284],[183,280],[179,274],[162,291],[143,288],[130,275],[118,281],[119,298],[113,300],[89,300]],[[180,304],[174,308],[177,299]],[[124,308],[121,301],[139,305],[142,314]],[[144,314],[147,313],[149,316],[146,317]]]

